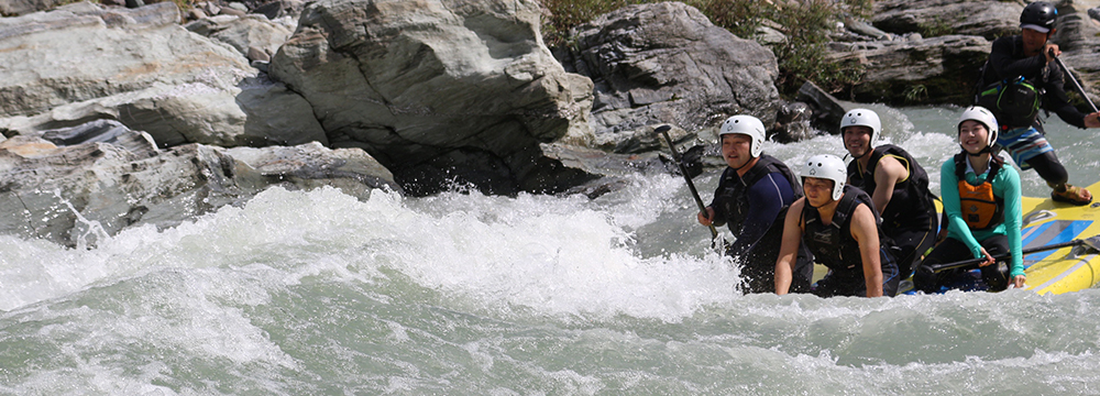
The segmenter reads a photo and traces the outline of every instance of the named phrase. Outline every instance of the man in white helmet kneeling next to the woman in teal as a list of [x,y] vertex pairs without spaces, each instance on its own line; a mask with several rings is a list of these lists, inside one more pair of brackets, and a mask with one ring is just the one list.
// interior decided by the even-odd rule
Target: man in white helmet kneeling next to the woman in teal
[[936,242],[936,196],[928,189],[928,174],[909,152],[875,145],[881,131],[879,114],[869,109],[853,109],[840,120],[844,147],[855,158],[848,163],[848,184],[871,196],[905,278]]

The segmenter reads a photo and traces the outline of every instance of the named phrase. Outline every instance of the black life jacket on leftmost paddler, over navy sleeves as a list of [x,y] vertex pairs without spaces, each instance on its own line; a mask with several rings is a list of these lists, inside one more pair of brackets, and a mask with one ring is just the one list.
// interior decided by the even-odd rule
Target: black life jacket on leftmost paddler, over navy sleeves
[[791,184],[791,189],[794,191],[794,197],[790,202],[783,205],[783,209],[776,217],[776,222],[782,224],[783,219],[787,218],[788,207],[799,198],[802,198],[802,184],[798,183],[794,173],[787,167],[787,164],[773,156],[760,155],[760,160],[744,176],[738,176],[737,170],[734,168],[726,168],[723,172],[722,182],[725,188],[718,191],[718,195],[722,197],[719,202],[722,202],[722,210],[726,213],[729,231],[734,232],[735,235],[740,232],[741,222],[749,216],[749,187],[756,185],[765,176],[776,172],[779,172],[787,178],[787,183]]

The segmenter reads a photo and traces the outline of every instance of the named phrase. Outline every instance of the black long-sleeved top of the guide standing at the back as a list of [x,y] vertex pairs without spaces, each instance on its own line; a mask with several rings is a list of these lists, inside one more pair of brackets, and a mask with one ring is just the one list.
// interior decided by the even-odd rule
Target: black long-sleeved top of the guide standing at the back
[[[1065,74],[1057,64],[1048,65],[1046,56],[1043,54],[1031,57],[1024,56],[1023,38],[1020,35],[994,40],[993,48],[989,53],[989,63],[986,65],[982,75],[981,87],[1005,78],[1015,77],[1036,81],[1044,89],[1042,101],[1044,109],[1054,111],[1058,114],[1058,118],[1068,124],[1085,128],[1085,116],[1087,114],[1078,111],[1072,105],[1069,105],[1069,97],[1066,96]],[[996,111],[993,116],[998,117]],[[1002,117],[998,117],[998,120],[1000,119]],[[1001,129],[1012,130],[1027,125],[1001,125]],[[1037,119],[1033,127],[1038,131],[1043,131],[1043,127]]]

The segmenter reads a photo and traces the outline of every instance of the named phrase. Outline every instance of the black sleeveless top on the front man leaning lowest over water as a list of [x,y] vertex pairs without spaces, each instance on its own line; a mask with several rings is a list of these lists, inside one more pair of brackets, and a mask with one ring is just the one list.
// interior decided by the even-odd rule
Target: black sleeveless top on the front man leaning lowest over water
[[[859,252],[859,242],[851,237],[850,219],[856,208],[866,205],[875,213],[871,204],[871,196],[864,190],[846,185],[844,196],[837,204],[836,212],[833,213],[833,221],[829,224],[822,222],[821,213],[817,209],[806,205],[802,210],[802,221],[805,222],[805,231],[802,233],[802,242],[810,246],[814,258],[833,271],[835,276],[844,278],[864,278],[864,258]],[[878,213],[875,213],[875,221],[880,221]],[[882,227],[879,229],[879,240],[882,246],[888,245],[889,237],[882,234]],[[880,246],[879,252],[884,252]],[[882,253],[880,253],[882,254]],[[892,260],[883,260],[882,265],[891,265]],[[894,271],[897,272],[897,271]],[[887,274],[887,268],[882,271]],[[833,276],[833,275],[831,275]]]

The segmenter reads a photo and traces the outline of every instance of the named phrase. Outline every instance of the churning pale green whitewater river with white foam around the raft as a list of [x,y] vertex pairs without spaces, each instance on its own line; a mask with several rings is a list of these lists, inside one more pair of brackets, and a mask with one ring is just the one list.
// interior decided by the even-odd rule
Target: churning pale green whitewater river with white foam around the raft
[[[876,109],[938,191],[961,109]],[[1049,135],[1100,179],[1100,130]],[[595,200],[273,189],[94,250],[0,237],[0,394],[1100,394],[1100,290],[745,296],[694,212],[657,175]]]

